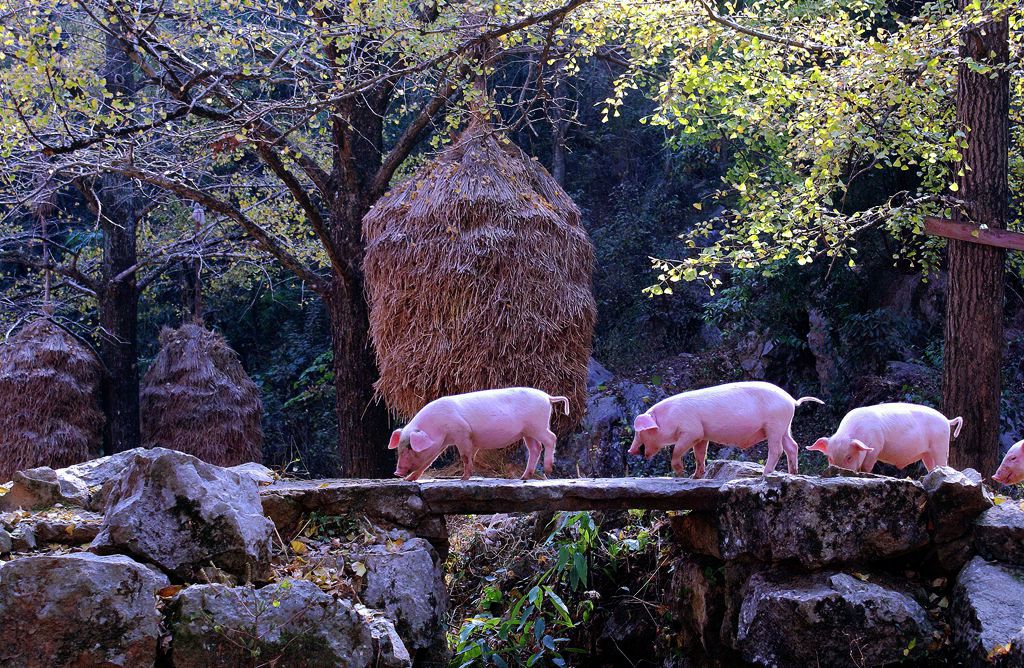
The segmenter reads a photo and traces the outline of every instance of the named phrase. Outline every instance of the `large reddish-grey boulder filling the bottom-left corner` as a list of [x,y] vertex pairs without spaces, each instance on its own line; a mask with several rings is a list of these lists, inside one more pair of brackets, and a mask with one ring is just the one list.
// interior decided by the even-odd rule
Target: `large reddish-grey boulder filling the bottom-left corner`
[[30,556],[0,567],[0,665],[152,666],[167,578],[127,556]]

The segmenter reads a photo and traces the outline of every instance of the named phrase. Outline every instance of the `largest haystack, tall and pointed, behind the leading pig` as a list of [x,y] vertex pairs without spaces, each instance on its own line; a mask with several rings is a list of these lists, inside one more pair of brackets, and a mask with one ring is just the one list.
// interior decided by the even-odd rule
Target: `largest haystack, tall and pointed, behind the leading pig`
[[528,385],[583,416],[596,308],[580,210],[475,118],[362,221],[377,390],[403,417],[456,392]]

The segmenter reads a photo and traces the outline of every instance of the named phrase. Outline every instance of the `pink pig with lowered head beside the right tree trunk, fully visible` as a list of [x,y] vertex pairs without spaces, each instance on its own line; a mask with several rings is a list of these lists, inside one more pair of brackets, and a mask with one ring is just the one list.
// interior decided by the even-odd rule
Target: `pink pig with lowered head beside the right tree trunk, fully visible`
[[846,414],[831,436],[818,439],[808,450],[824,453],[828,463],[853,471],[870,472],[881,461],[899,468],[925,462],[925,468],[949,461],[949,429],[959,435],[964,418],[946,416],[918,404],[879,404]]

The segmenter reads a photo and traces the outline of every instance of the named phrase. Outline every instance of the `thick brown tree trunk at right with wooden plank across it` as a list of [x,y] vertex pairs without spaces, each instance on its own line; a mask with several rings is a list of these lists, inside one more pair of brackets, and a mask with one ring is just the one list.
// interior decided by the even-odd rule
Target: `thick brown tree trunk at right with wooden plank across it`
[[[961,7],[970,4],[959,0]],[[986,65],[1009,60],[1006,16],[974,27],[961,56]],[[994,55],[990,55],[994,54]],[[991,74],[958,68],[956,121],[968,132],[957,194],[962,222],[1006,227],[1009,214],[1007,155],[1010,142],[1010,84],[1007,71]],[[942,403],[950,418],[963,416],[959,439],[950,446],[950,464],[991,475],[998,463],[999,395],[1002,367],[1005,251],[949,241]]]

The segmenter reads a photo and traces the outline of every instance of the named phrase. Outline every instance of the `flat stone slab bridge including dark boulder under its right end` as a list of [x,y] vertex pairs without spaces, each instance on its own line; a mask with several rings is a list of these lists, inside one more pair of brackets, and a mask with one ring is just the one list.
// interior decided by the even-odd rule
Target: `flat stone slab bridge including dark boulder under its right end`
[[[923,482],[830,470],[772,473],[712,462],[703,479],[618,477],[278,482],[262,488],[264,512],[284,531],[310,513],[365,514],[447,550],[444,515],[628,508],[689,511],[676,523],[686,547],[719,558],[751,557],[816,568],[885,558],[963,533],[979,511],[979,481],[959,473]],[[967,495],[974,504],[950,502]],[[967,520],[969,521],[969,520]]]

